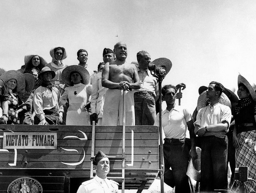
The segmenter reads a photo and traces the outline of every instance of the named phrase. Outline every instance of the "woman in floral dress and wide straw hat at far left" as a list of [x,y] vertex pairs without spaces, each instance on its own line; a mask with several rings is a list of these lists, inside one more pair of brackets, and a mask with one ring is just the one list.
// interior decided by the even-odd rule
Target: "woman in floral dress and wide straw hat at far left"
[[25,87],[25,79],[22,73],[16,70],[10,70],[0,76],[6,83],[8,91],[8,120],[7,124],[18,124],[18,114],[26,110],[22,100],[19,98],[17,92]]

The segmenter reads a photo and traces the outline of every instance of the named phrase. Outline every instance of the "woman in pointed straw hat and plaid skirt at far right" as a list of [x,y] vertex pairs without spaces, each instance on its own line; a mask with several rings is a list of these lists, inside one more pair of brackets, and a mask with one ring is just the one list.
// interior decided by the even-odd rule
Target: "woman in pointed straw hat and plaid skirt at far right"
[[[239,101],[235,107],[233,145],[236,147],[236,167],[248,166],[248,177],[256,179],[256,93],[250,83],[238,75]],[[248,192],[256,190],[253,181],[246,182]]]

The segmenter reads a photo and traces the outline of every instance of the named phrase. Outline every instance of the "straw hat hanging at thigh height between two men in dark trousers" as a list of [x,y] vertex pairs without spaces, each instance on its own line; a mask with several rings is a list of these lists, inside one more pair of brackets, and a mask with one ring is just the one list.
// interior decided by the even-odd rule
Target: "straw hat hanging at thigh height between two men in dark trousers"
[[197,159],[192,160],[190,158],[187,169],[187,176],[200,181],[201,178],[201,149],[200,147],[196,147]]

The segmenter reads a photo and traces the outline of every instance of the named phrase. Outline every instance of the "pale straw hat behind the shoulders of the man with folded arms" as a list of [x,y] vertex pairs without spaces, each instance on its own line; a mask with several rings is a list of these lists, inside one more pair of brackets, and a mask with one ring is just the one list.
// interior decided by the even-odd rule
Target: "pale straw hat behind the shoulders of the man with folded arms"
[[[206,91],[204,91],[198,97],[197,110],[199,111],[199,109],[207,106],[208,103],[209,103],[209,99],[206,98]],[[224,92],[222,92],[221,95],[219,96],[219,103],[222,104],[222,105],[229,106],[230,109],[231,109],[231,102],[230,102],[229,98],[227,97],[227,95]]]

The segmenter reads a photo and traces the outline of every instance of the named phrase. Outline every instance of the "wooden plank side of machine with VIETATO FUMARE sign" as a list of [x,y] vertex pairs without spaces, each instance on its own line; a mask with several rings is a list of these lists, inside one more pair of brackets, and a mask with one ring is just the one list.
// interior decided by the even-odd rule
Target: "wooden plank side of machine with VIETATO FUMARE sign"
[[[56,149],[45,147],[42,147],[44,149],[32,149],[25,146],[22,146],[22,149],[4,149],[3,145],[12,145],[10,140],[15,140],[14,138],[4,140],[4,134],[7,138],[7,135],[10,136],[9,133],[13,135],[15,132],[21,132],[24,135],[31,132],[57,133]],[[4,141],[5,144],[3,144]],[[17,176],[37,176],[35,179],[38,178],[39,181],[44,175],[49,179],[56,176],[57,181],[63,180],[57,176],[90,177],[91,142],[92,126],[0,126],[0,192],[6,192],[7,184],[15,178],[10,177],[15,176],[14,171]],[[36,143],[35,139],[34,143]],[[99,150],[108,156],[122,155],[122,126],[96,126],[95,154]],[[121,160],[110,160],[108,176],[120,177],[121,168]],[[145,180],[148,181],[146,185],[148,187],[156,177],[158,168],[158,127],[126,126],[125,187],[136,188],[141,181]],[[38,174],[35,169],[41,174]],[[46,186],[47,180],[43,181],[42,186]],[[69,183],[67,179],[63,180],[63,183],[64,181]],[[60,183],[60,187],[67,187],[64,184]]]

